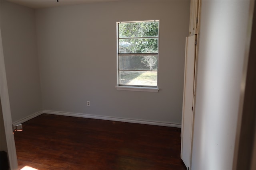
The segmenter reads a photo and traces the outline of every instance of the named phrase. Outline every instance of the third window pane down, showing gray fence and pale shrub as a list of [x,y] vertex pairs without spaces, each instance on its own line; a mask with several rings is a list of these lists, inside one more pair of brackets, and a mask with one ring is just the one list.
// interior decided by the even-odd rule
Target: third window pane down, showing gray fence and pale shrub
[[119,70],[157,70],[157,55],[121,55]]

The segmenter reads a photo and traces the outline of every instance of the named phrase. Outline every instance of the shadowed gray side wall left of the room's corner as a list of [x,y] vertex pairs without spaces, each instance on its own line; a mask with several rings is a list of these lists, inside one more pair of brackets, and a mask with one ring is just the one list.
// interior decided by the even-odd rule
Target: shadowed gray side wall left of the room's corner
[[42,110],[35,10],[1,0],[1,33],[14,122]]

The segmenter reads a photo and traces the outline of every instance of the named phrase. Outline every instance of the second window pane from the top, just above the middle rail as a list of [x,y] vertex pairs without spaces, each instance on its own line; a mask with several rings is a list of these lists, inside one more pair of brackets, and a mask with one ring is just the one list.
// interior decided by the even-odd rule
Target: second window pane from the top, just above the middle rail
[[158,53],[158,38],[119,39],[119,53]]

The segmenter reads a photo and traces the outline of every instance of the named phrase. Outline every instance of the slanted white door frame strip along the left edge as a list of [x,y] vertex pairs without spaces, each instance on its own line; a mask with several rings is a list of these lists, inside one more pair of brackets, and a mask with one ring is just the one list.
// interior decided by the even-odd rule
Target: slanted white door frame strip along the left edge
[[4,122],[4,131],[6,135],[7,152],[10,163],[10,170],[18,170],[18,161],[16,155],[16,147],[14,142],[14,135],[12,133],[12,116],[8,95],[8,87],[6,80],[6,72],[4,65],[4,53],[1,39],[1,59],[0,59],[0,71],[1,71],[1,83],[0,83],[0,102],[1,102],[1,114]]

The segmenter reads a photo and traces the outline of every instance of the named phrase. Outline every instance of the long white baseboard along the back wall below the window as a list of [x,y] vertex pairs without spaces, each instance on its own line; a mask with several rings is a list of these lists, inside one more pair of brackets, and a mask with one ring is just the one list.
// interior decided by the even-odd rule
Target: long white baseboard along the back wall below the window
[[89,114],[82,114],[82,113],[72,113],[72,112],[52,111],[52,110],[44,110],[43,113],[52,114],[52,115],[84,117],[84,118],[90,118],[90,119],[122,121],[122,122],[128,122],[128,123],[140,123],[140,124],[146,124],[146,125],[158,125],[158,126],[168,126],[168,127],[178,127],[178,128],[181,128],[180,124],[168,123],[168,122],[160,122],[160,121],[145,121],[145,120],[135,120],[135,119],[124,119],[124,118],[118,118],[118,117],[108,117],[108,116],[100,116],[100,115],[89,115]]

